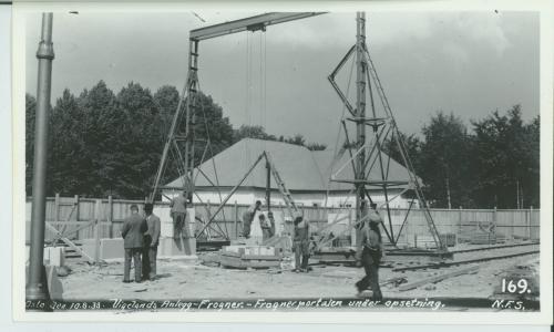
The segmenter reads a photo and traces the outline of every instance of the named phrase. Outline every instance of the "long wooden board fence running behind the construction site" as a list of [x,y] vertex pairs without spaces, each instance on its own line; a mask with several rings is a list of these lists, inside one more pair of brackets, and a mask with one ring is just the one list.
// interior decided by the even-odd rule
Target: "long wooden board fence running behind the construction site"
[[[80,198],[75,197],[49,197],[47,198],[47,221],[58,230],[76,230],[70,238],[114,238],[120,236],[120,227],[130,214],[133,204],[142,205],[141,200]],[[156,208],[167,207],[167,204],[158,203]],[[195,204],[196,216],[206,220],[217,208],[214,204]],[[237,238],[242,230],[240,216],[248,208],[247,205],[228,204],[216,216],[216,222],[230,239]],[[273,207],[275,211],[284,211],[285,207]],[[305,217],[312,222],[312,229],[321,229],[337,218],[345,219],[341,225],[334,227],[334,231],[340,234],[347,229],[353,219],[351,208],[325,208],[302,207]],[[390,221],[392,232],[397,237],[406,219],[407,209],[391,209]],[[389,216],[386,210],[380,215],[384,224],[389,225]],[[479,234],[483,228],[495,227],[497,235],[506,238],[540,239],[540,210],[496,210],[496,209],[431,209],[431,216],[440,234],[456,234],[459,237],[471,237]],[[31,199],[27,201],[27,240],[30,238]],[[86,225],[90,227],[86,227]],[[412,242],[414,236],[429,235],[428,225],[421,210],[412,209],[402,228],[399,242]],[[347,238],[350,234],[345,232]],[[47,229],[45,239],[52,239],[54,234]]]

